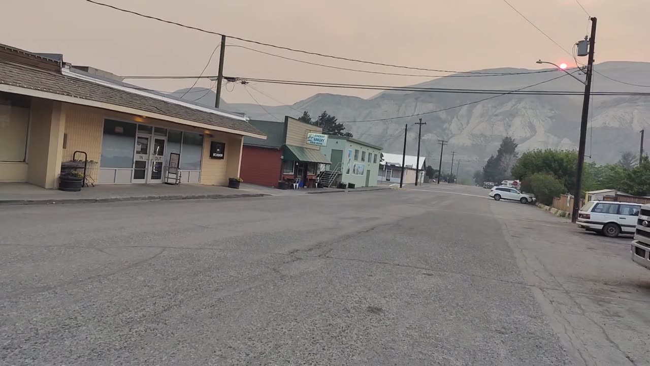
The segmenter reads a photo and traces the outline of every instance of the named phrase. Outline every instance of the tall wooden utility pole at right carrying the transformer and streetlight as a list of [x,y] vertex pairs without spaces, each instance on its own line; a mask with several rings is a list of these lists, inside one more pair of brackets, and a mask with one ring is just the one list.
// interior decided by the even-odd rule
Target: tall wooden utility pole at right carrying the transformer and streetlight
[[587,142],[587,122],[589,117],[589,98],[591,96],[591,76],[593,75],[593,46],[596,43],[596,18],[591,17],[591,36],[589,38],[589,59],[585,72],[584,100],[582,101],[582,120],[580,123],[580,145],[578,146],[578,167],[575,177],[575,191],[573,192],[573,212],[571,222],[575,223],[580,210],[580,196],[582,195],[582,168],[584,166],[584,148]]

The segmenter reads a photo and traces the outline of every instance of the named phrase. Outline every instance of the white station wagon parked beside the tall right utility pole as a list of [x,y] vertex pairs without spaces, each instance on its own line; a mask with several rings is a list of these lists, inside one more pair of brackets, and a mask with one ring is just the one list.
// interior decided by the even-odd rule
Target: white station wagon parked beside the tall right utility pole
[[619,234],[634,234],[640,210],[639,203],[589,201],[580,208],[576,221],[580,229],[616,238]]

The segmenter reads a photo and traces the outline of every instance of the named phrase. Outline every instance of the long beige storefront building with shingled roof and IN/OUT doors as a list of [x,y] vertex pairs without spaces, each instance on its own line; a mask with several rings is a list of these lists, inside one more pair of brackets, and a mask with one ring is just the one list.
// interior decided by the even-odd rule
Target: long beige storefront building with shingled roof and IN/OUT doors
[[181,182],[227,185],[244,136],[266,138],[244,115],[0,45],[0,182],[57,188],[62,165],[87,156],[88,182],[162,183],[179,154]]

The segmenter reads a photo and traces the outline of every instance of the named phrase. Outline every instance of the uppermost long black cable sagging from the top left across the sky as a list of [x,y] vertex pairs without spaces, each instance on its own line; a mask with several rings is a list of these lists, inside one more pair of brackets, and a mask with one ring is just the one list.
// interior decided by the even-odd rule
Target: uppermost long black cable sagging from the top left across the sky
[[[86,1],[86,2],[88,2],[88,3],[92,3],[92,4],[94,4],[94,5],[99,5],[99,6],[101,6],[101,7],[107,7],[107,8],[111,8],[111,9],[114,9],[114,10],[118,10],[118,11],[120,11],[120,12],[125,12],[125,13],[133,14],[133,15],[136,15],[136,16],[141,16],[141,17],[143,17],[143,18],[148,18],[148,19],[151,19],[151,20],[162,21],[163,23],[168,23],[168,24],[172,24],[172,25],[177,25],[177,26],[179,26],[179,27],[183,27],[183,28],[187,28],[187,29],[192,29],[192,30],[194,30],[194,31],[199,31],[199,32],[202,32],[202,33],[207,33],[207,34],[210,34],[210,35],[227,36],[227,37],[229,37],[229,38],[233,38],[233,39],[236,39],[236,40],[240,40],[240,41],[242,41],[242,42],[248,42],[248,43],[253,43],[253,44],[259,44],[260,46],[268,46],[268,47],[278,48],[278,49],[285,49],[285,50],[287,50],[287,51],[299,52],[299,53],[305,53],[305,54],[307,54],[307,55],[314,55],[314,56],[319,56],[319,57],[328,57],[328,58],[330,58],[330,59],[337,59],[337,60],[343,60],[343,61],[350,61],[350,62],[354,62],[354,63],[372,64],[372,65],[376,65],[376,66],[387,66],[387,67],[394,67],[394,68],[406,68],[406,69],[409,69],[409,70],[433,71],[433,72],[446,72],[446,73],[450,73],[450,74],[454,74],[454,73],[457,73],[457,74],[495,74],[495,73],[491,73],[491,72],[440,70],[440,69],[435,69],[435,68],[421,68],[421,67],[415,67],[415,66],[404,66],[404,65],[397,65],[397,64],[378,63],[378,62],[374,62],[374,61],[365,61],[365,60],[359,60],[359,59],[351,59],[351,58],[349,58],[349,57],[333,56],[333,55],[328,55],[328,54],[326,54],[326,53],[318,53],[318,52],[312,52],[312,51],[304,51],[303,49],[296,49],[296,48],[289,48],[289,47],[285,47],[285,46],[278,46],[278,45],[275,45],[275,44],[270,44],[270,43],[265,43],[265,42],[259,42],[259,41],[256,41],[256,40],[250,40],[250,39],[241,38],[241,37],[238,37],[238,36],[226,35],[226,34],[224,34],[224,33],[218,33],[218,32],[214,32],[214,31],[208,31],[208,30],[206,30],[206,29],[202,29],[202,28],[199,28],[199,27],[194,27],[194,26],[192,26],[192,25],[185,25],[185,24],[183,24],[183,23],[178,23],[177,21],[164,20],[164,19],[162,19],[162,18],[157,18],[157,17],[155,17],[155,16],[150,16],[150,15],[142,14],[142,13],[140,13],[140,12],[135,12],[135,11],[133,11],[133,10],[127,10],[127,9],[124,9],[124,8],[115,7],[114,5],[109,5],[109,4],[105,4],[105,3],[100,3],[99,1],[94,1],[94,0],[83,0],[83,1]],[[505,0],[504,0],[504,1],[505,1]],[[504,75],[510,75],[510,74],[508,74],[508,73],[503,73],[503,74],[504,74]],[[517,73],[512,73],[512,74],[517,74]]]

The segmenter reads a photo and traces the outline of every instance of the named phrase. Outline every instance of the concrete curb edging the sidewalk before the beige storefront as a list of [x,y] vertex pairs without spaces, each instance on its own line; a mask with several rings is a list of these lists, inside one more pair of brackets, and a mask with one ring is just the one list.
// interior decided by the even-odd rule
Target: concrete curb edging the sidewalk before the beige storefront
[[253,198],[267,197],[265,193],[242,193],[239,195],[168,195],[168,196],[135,196],[135,197],[107,197],[107,198],[82,198],[82,199],[8,199],[0,201],[0,206],[18,204],[71,204],[71,203],[110,203],[129,201],[168,201],[178,199],[227,199],[227,198]]

